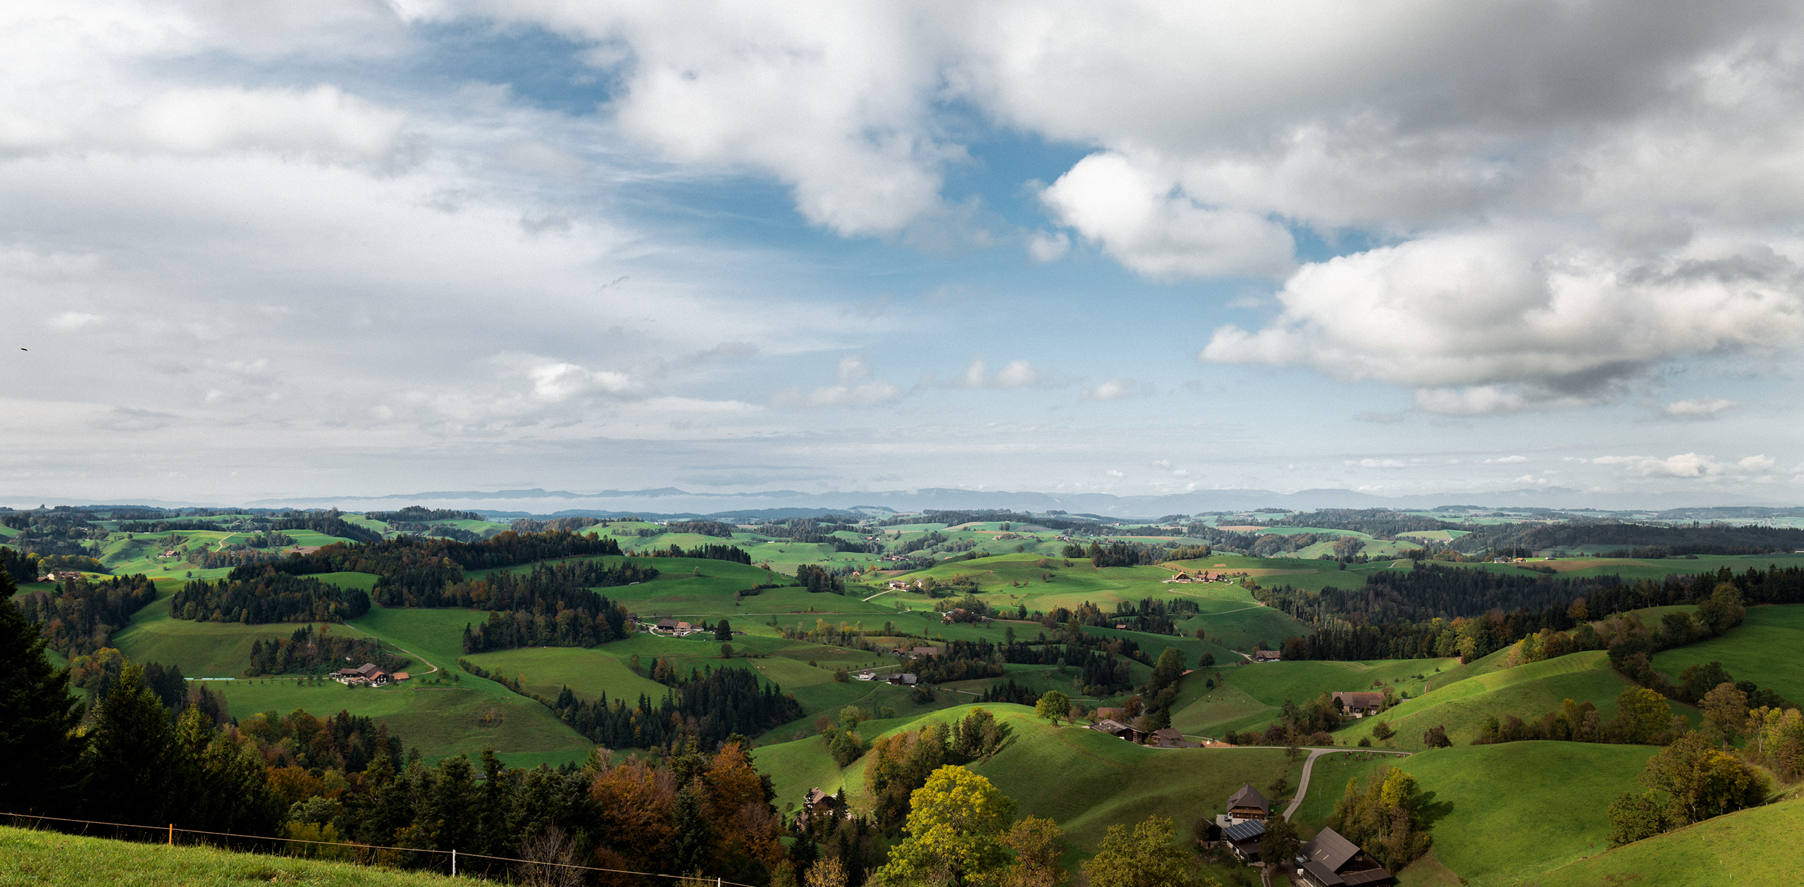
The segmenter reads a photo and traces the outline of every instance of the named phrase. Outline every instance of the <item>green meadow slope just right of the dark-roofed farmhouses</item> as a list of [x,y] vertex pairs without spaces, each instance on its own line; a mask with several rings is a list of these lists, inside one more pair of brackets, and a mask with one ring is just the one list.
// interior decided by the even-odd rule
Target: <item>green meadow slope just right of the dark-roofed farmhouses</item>
[[[1396,766],[1429,793],[1440,865],[1477,887],[1537,883],[1542,873],[1609,846],[1609,804],[1624,791],[1640,791],[1636,777],[1658,752],[1645,745],[1535,741],[1438,748],[1411,757],[1322,755],[1295,820],[1308,835],[1321,831],[1349,779]],[[1402,873],[1404,883],[1436,865],[1422,867],[1423,873]]]

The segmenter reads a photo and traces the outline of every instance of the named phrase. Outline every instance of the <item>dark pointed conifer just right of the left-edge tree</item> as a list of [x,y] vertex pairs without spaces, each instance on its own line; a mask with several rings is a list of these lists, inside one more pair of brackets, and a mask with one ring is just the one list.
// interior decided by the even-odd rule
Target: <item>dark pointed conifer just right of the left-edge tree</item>
[[162,700],[144,687],[143,665],[124,665],[94,710],[88,736],[88,815],[162,826],[188,813],[186,797],[171,788],[189,779],[189,757],[175,745]]

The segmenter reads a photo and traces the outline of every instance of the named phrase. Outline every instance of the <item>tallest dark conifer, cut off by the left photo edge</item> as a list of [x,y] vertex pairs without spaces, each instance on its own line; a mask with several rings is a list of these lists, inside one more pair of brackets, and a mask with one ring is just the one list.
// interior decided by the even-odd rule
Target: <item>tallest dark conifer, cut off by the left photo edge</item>
[[51,665],[38,627],[13,604],[16,591],[0,570],[0,809],[67,813],[83,772],[81,707],[69,671]]

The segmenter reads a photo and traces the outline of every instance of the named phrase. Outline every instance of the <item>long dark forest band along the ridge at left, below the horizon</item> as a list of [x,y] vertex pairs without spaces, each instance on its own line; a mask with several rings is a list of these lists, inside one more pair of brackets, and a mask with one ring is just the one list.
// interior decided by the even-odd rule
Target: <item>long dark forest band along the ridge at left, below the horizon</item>
[[[382,606],[410,604],[442,593],[446,584],[462,582],[464,570],[530,564],[561,557],[619,555],[621,543],[595,534],[572,532],[523,534],[509,530],[476,543],[442,537],[397,535],[372,544],[328,544],[305,555],[290,555],[272,566],[283,573],[375,573],[375,600]],[[233,570],[233,577],[238,570]]]

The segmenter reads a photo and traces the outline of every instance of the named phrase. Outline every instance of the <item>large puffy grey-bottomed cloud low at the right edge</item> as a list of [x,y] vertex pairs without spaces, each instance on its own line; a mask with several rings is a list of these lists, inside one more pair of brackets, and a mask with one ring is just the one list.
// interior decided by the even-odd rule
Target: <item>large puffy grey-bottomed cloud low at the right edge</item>
[[1584,406],[1663,361],[1795,343],[1799,278],[1763,247],[1642,261],[1427,236],[1299,269],[1270,326],[1223,326],[1200,357],[1413,386],[1429,413]]

